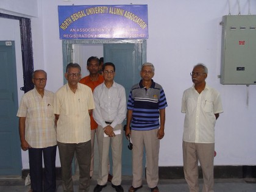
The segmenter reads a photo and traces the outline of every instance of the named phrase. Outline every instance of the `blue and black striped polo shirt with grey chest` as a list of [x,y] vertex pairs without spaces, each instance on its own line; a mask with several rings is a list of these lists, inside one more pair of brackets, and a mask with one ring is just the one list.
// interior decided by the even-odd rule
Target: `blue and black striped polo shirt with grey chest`
[[159,110],[167,106],[162,86],[153,80],[148,90],[142,85],[142,80],[133,85],[127,103],[127,109],[132,110],[132,130],[158,129]]

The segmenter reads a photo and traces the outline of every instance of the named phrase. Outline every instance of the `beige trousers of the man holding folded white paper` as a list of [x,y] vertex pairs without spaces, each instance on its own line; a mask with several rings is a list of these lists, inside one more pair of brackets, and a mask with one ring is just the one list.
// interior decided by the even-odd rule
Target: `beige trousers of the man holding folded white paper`
[[101,126],[97,129],[97,140],[99,148],[99,177],[98,184],[105,185],[108,177],[108,152],[111,144],[113,159],[113,185],[121,185],[122,180],[122,148],[123,148],[123,127],[118,124],[114,130],[121,129],[121,134],[115,137],[104,137],[104,130]]

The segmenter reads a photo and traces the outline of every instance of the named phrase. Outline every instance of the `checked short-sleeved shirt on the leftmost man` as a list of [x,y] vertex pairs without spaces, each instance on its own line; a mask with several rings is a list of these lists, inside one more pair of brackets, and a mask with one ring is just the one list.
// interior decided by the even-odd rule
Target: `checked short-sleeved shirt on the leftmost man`
[[32,148],[48,148],[57,144],[53,102],[54,93],[44,90],[42,98],[36,88],[21,98],[17,116],[26,118],[25,139]]

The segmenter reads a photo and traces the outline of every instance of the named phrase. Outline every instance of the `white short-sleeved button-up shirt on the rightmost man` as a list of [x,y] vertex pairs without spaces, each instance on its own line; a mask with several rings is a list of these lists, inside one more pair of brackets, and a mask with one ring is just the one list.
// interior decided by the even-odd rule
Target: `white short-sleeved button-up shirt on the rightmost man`
[[216,113],[222,113],[221,97],[214,88],[205,85],[199,94],[193,87],[184,91],[182,113],[185,113],[183,141],[214,143]]

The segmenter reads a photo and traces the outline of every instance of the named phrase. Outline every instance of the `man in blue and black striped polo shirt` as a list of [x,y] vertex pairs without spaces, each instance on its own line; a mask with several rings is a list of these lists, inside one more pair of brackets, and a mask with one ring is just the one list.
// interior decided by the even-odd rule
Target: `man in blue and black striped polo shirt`
[[[152,80],[154,65],[142,65],[139,84],[133,85],[127,103],[126,137],[130,135],[132,150],[132,186],[129,192],[142,187],[143,148],[146,149],[146,178],[152,192],[158,192],[158,155],[160,140],[165,135],[167,101],[161,85]],[[159,122],[160,116],[160,122]]]

